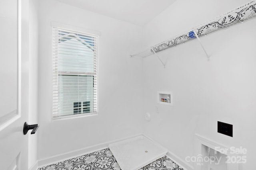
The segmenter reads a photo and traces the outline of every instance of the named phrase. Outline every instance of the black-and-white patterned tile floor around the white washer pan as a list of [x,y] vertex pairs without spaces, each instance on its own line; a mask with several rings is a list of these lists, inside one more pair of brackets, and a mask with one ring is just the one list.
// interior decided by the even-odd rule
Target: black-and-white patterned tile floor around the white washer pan
[[[110,149],[102,149],[84,154],[38,170],[121,170]],[[183,170],[166,156],[140,168],[139,170]]]

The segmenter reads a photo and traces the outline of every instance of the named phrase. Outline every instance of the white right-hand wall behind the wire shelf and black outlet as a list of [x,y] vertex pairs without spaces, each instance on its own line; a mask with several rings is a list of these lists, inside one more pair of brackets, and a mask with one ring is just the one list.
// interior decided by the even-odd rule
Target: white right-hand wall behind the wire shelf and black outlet
[[[246,0],[179,0],[144,27],[144,46],[150,47],[208,21]],[[240,170],[254,168],[256,135],[256,20],[202,37],[211,61],[193,40],[166,49],[143,61],[143,133],[182,160],[194,156],[197,133],[228,147],[248,150]],[[157,91],[173,92],[173,107],[156,102]],[[156,113],[159,106],[160,113]],[[233,124],[234,137],[217,133],[217,121]],[[193,166],[190,162],[188,165]],[[188,167],[188,166],[186,166]]]

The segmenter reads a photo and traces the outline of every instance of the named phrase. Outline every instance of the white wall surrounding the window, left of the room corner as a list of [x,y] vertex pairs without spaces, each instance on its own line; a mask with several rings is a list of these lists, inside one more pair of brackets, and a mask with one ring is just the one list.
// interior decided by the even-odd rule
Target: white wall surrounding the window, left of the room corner
[[[38,160],[142,133],[142,61],[129,55],[141,49],[136,25],[68,6],[40,1]],[[51,21],[100,31],[98,115],[52,121]]]

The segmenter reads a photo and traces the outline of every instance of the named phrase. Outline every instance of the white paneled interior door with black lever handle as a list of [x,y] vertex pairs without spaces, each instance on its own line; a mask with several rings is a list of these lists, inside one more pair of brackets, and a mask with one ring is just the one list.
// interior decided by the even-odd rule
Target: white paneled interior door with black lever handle
[[28,170],[28,0],[0,0],[0,170]]

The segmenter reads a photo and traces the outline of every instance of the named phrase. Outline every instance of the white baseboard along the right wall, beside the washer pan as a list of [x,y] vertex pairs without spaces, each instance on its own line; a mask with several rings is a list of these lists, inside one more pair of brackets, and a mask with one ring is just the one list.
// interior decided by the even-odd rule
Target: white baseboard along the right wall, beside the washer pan
[[[154,141],[152,138],[148,137],[147,135],[143,135],[143,136],[150,139],[154,143],[157,143],[156,141]],[[160,145],[159,143],[157,143],[157,144]],[[166,150],[168,150],[168,149],[166,149]],[[172,161],[174,161],[175,163],[177,163],[184,170],[194,170],[194,167],[192,165],[188,164],[188,162],[186,162],[185,160],[183,160],[182,158],[180,158],[176,154],[172,153],[170,150],[168,150],[166,156],[168,158],[170,158]]]

